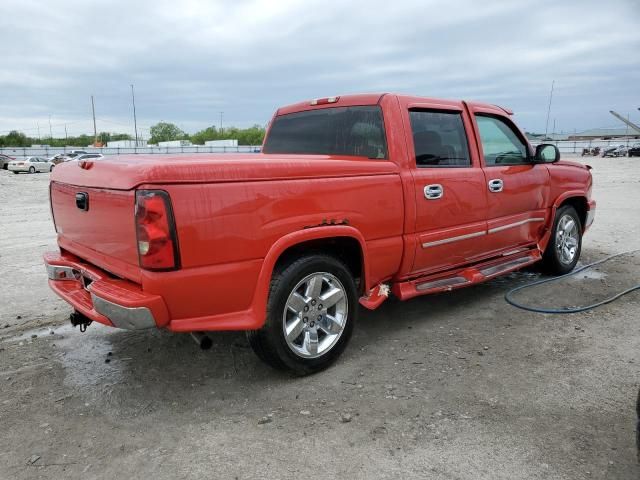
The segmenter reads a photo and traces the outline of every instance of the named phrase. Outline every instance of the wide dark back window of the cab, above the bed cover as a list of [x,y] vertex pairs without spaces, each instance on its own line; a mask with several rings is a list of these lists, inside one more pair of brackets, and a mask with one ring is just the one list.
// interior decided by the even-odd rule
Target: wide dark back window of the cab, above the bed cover
[[277,116],[262,151],[387,158],[382,110],[338,107]]

